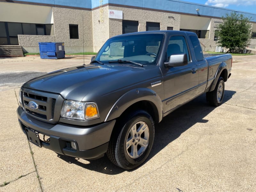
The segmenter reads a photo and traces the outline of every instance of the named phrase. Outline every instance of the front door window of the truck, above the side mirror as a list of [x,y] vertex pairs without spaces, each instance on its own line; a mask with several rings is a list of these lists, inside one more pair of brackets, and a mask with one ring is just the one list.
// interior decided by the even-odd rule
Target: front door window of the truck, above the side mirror
[[167,47],[168,60],[171,55],[187,53],[188,61],[190,61],[188,46],[184,36],[172,36]]

